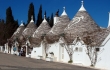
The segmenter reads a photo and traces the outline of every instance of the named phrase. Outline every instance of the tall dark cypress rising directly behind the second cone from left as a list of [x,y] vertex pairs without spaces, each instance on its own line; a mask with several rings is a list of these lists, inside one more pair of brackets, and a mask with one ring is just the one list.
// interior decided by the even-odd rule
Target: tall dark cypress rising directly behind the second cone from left
[[30,5],[29,5],[27,25],[31,21],[31,16],[33,16],[33,20],[35,21],[35,13],[34,13],[33,3],[30,3]]

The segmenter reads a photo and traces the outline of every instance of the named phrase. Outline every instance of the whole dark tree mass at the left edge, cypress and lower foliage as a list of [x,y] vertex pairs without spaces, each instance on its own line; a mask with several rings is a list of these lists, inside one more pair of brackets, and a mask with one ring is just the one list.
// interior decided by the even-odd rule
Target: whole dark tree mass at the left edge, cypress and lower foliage
[[6,23],[3,19],[0,22],[0,45],[4,45],[17,28],[18,20],[14,20],[11,7],[8,7],[6,9]]

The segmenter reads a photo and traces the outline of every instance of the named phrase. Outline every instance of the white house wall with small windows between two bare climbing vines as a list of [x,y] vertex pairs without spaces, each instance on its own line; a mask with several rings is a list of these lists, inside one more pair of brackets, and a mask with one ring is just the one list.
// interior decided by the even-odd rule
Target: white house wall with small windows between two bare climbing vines
[[[78,48],[78,50],[76,50]],[[73,48],[74,53],[73,53],[73,63],[74,64],[80,64],[84,66],[90,66],[91,62],[86,54],[86,46],[82,45],[81,42],[77,42]]]

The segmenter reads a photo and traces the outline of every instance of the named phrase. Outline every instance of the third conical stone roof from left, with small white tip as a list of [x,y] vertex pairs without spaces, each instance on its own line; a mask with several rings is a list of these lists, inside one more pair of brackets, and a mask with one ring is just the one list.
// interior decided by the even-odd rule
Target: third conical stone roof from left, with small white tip
[[34,46],[34,47],[39,46],[40,42],[42,41],[42,37],[45,36],[50,31],[50,29],[51,27],[49,23],[44,18],[44,20],[42,21],[40,26],[36,29],[36,31],[33,33],[30,39],[31,46]]

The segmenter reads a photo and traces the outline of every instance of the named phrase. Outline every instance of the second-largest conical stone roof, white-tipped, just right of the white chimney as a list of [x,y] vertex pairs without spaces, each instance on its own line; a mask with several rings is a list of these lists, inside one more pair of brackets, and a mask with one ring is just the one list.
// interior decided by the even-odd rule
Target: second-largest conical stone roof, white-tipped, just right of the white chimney
[[47,40],[50,42],[55,42],[59,40],[59,35],[64,33],[64,29],[67,27],[68,23],[70,22],[70,19],[68,15],[65,12],[65,8],[61,16],[59,17],[59,20],[56,22],[56,24],[52,27],[52,29],[47,33]]

